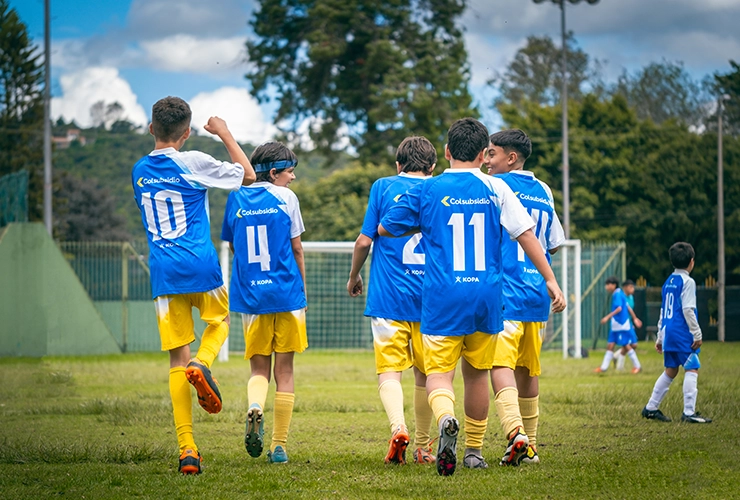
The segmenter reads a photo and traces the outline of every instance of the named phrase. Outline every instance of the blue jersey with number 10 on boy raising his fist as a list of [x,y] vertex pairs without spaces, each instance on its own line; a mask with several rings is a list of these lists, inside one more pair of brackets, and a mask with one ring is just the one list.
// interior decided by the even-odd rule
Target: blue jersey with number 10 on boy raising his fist
[[198,151],[152,151],[131,174],[149,241],[152,296],[197,293],[223,285],[211,242],[207,188],[239,189],[244,167]]

